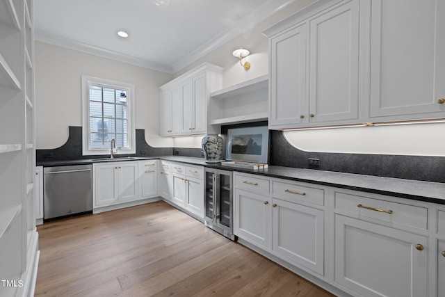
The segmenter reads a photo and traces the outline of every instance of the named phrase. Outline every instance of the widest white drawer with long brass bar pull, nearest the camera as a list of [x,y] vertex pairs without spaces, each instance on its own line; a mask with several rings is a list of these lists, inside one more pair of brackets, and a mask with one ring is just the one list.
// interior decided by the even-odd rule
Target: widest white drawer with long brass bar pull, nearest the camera
[[336,192],[335,210],[348,211],[357,216],[428,230],[428,209],[426,207]]

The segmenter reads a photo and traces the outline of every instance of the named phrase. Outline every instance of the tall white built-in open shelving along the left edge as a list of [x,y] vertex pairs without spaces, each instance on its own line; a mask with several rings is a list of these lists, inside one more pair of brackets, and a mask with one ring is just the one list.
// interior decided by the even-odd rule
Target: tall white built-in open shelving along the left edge
[[0,280],[13,284],[2,282],[0,296],[32,296],[35,286],[33,61],[33,0],[0,1]]

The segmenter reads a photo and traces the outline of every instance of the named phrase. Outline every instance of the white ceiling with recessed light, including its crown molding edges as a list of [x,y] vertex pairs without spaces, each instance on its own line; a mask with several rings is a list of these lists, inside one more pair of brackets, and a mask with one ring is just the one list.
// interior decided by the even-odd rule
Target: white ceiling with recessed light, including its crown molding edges
[[293,1],[35,0],[35,39],[175,73]]

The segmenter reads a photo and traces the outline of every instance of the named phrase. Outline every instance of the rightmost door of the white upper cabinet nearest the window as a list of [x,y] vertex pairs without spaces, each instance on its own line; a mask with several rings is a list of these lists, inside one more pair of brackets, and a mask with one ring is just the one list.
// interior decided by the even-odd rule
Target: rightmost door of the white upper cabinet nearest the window
[[205,134],[207,131],[207,91],[206,74],[193,77],[193,133]]

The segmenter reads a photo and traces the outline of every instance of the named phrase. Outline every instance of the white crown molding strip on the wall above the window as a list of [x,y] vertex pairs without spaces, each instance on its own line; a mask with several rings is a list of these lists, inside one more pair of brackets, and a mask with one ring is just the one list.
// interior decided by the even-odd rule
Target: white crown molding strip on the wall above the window
[[56,45],[58,47],[65,47],[67,49],[74,49],[75,51],[81,51],[86,54],[92,54],[102,58],[109,58],[114,61],[136,65],[139,67],[145,67],[151,70],[166,72],[168,74],[174,74],[172,67],[155,63],[142,58],[136,58],[126,54],[121,54],[109,49],[102,49],[101,47],[95,47],[94,45],[88,45],[83,42],[63,38],[58,35],[52,35],[46,32],[35,30],[35,40],[40,42],[49,43],[50,45]]

